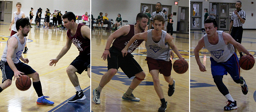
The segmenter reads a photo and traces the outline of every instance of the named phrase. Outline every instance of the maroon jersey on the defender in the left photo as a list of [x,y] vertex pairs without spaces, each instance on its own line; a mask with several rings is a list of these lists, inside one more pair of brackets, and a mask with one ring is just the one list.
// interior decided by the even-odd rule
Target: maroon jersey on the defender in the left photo
[[70,29],[67,31],[68,38],[76,45],[79,55],[80,54],[90,54],[90,39],[87,37],[83,37],[81,34],[81,27],[85,25],[83,23],[79,23],[76,29],[76,34],[71,36]]

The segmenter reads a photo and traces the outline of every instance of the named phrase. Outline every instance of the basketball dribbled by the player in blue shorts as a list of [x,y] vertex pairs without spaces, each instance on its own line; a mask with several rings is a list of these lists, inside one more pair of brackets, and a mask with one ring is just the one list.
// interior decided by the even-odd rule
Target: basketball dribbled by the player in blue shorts
[[244,55],[239,59],[239,66],[244,70],[252,69],[254,63],[255,61],[250,55]]

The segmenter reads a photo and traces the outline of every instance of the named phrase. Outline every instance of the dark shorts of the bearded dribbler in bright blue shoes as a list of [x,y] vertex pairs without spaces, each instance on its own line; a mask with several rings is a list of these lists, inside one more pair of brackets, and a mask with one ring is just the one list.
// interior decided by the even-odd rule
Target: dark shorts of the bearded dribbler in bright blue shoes
[[[31,68],[29,65],[21,62],[20,60],[19,60],[19,63],[17,63],[17,64],[14,63],[14,65],[20,72],[23,72],[24,75],[33,74],[36,72],[33,68]],[[7,79],[12,80],[12,77],[14,76],[14,72],[8,65],[7,61],[1,60],[0,68],[2,70],[2,77],[3,77],[2,83],[4,83],[4,81]]]

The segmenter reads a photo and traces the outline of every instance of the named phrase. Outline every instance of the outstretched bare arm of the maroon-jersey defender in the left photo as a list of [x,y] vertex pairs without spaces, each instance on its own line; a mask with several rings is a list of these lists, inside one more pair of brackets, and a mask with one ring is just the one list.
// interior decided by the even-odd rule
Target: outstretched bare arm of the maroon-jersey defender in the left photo
[[72,41],[69,40],[67,35],[66,35],[66,38],[67,38],[67,42],[66,42],[65,46],[62,48],[59,55],[55,59],[50,60],[51,61],[50,64],[49,64],[50,66],[52,66],[53,64],[55,66],[56,63],[60,60],[60,58],[62,58],[68,52],[68,50],[70,49]]

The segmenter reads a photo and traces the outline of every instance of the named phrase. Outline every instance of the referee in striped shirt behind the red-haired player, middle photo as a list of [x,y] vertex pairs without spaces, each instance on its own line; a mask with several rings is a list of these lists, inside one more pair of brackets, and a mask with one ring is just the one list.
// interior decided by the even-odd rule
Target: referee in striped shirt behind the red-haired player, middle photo
[[[157,2],[156,3],[156,11],[155,12],[152,12],[151,14],[151,18],[150,18],[150,24],[149,24],[149,29],[154,29],[154,27],[152,27],[152,23],[153,23],[153,19],[156,15],[161,15],[164,17],[164,20],[165,20],[165,14],[164,12],[161,11],[161,8],[162,8],[162,4],[160,2]],[[164,30],[164,28],[162,28],[162,30]]]

